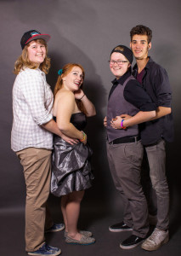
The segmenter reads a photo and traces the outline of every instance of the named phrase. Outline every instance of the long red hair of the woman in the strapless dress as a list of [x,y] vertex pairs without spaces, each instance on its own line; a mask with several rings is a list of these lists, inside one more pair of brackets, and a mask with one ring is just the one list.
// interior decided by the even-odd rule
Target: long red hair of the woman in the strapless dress
[[[82,73],[83,73],[83,79],[85,78],[85,72],[84,69],[82,67],[82,65],[80,64],[76,64],[76,63],[68,63],[66,64],[63,68],[62,68],[62,74],[59,75],[57,82],[55,84],[54,87],[54,97],[56,96],[57,92],[62,88],[63,86],[63,78],[68,75],[68,73],[71,72],[73,67],[80,67],[82,69]],[[83,85],[83,84],[82,84]],[[82,85],[81,85],[81,89],[82,89]],[[87,113],[86,109],[83,106],[83,103],[81,101],[76,100],[76,105],[77,107],[81,110],[82,113]]]

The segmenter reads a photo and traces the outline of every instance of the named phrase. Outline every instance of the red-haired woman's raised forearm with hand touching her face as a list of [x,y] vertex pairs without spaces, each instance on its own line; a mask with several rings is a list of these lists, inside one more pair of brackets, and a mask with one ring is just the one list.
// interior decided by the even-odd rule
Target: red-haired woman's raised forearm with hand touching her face
[[88,100],[88,97],[84,94],[84,92],[80,89],[77,90],[75,93],[76,100],[80,100],[83,103],[83,106],[86,108],[87,116],[93,116],[96,114],[95,107],[93,106],[93,103]]

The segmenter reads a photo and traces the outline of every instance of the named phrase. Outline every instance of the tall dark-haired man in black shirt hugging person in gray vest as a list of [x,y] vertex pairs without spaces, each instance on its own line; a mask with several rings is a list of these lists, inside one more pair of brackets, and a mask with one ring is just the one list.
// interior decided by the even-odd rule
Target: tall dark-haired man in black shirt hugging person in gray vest
[[169,190],[166,177],[165,142],[173,141],[172,90],[166,70],[148,56],[152,38],[150,28],[142,25],[135,26],[131,30],[130,36],[130,47],[137,61],[133,67],[133,76],[139,80],[157,106],[156,117],[139,125],[157,201],[156,229],[143,242],[142,248],[153,251],[169,239]]

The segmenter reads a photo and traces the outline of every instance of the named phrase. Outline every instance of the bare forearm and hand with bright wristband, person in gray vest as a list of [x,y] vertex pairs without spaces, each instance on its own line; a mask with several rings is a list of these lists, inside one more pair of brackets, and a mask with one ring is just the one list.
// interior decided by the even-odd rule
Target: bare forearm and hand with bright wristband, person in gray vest
[[138,125],[140,123],[147,122],[150,119],[153,119],[155,116],[156,116],[156,111],[148,111],[148,112],[139,111],[139,113],[135,114],[133,117],[130,117],[129,119],[124,119],[121,116],[116,116],[116,119],[112,120],[110,123],[114,129],[122,129],[121,127],[122,119],[124,119],[123,126],[129,127],[129,126]]

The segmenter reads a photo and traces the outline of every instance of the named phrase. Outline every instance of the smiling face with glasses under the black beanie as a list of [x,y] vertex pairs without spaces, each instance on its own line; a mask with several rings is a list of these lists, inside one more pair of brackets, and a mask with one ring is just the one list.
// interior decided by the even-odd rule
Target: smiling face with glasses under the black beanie
[[[116,79],[120,79],[124,73],[127,72],[128,68],[131,66],[127,58],[119,52],[113,52],[110,55],[110,61],[115,61],[114,64],[110,62],[110,71],[116,76]],[[122,62],[122,64],[117,64],[116,61],[126,61]]]

